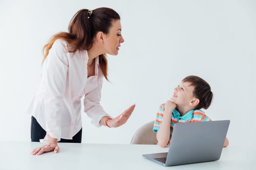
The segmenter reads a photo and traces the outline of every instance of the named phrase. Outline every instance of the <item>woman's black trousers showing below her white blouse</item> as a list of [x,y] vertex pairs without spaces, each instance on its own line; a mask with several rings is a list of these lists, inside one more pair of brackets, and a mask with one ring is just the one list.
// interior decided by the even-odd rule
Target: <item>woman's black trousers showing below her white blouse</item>
[[[45,130],[39,125],[36,118],[31,117],[31,142],[39,142],[39,139],[43,139],[46,135]],[[82,140],[82,129],[73,136],[73,139],[60,139],[59,142],[67,142],[67,143],[81,143]]]

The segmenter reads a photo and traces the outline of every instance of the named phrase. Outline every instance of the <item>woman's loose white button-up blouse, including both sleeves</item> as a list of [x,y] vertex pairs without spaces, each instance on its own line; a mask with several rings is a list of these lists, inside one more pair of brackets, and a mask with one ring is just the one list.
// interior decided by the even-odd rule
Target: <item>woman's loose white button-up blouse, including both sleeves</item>
[[87,51],[67,52],[67,43],[54,42],[42,65],[39,89],[28,109],[40,126],[52,137],[72,139],[82,127],[81,98],[84,112],[100,126],[109,116],[100,105],[103,74],[95,60],[95,76],[87,78]]

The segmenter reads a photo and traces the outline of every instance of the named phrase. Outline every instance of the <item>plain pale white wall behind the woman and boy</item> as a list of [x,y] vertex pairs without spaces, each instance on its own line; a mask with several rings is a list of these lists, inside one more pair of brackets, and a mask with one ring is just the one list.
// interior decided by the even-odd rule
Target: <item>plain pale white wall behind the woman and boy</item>
[[230,119],[230,145],[255,145],[255,0],[1,0],[0,140],[30,141],[26,110],[39,86],[42,47],[67,31],[80,9],[110,7],[125,42],[108,56],[101,104],[113,117],[136,108],[119,128],[97,128],[83,114],[83,143],[128,144],[187,75],[214,92],[206,114]]

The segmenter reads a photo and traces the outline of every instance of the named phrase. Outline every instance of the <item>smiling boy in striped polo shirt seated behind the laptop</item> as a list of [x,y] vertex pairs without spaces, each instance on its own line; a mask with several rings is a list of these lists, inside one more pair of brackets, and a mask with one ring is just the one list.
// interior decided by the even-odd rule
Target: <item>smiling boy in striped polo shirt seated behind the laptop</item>
[[[211,86],[198,76],[187,76],[174,88],[172,98],[160,105],[153,131],[157,132],[160,147],[170,144],[176,123],[211,121],[199,109],[207,109],[213,100]],[[225,139],[223,147],[228,146]]]

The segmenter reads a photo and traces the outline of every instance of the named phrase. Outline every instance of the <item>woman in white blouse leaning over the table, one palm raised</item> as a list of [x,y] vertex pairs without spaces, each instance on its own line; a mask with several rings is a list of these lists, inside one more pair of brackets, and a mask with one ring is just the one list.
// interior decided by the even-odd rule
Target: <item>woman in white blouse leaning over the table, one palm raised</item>
[[118,127],[131,116],[135,104],[112,119],[101,107],[103,77],[107,78],[105,53],[117,55],[120,17],[110,8],[82,9],[71,19],[69,32],[54,35],[43,48],[42,79],[29,108],[31,141],[47,142],[31,154],[59,152],[59,142],[81,142],[81,98],[84,112],[96,126]]

